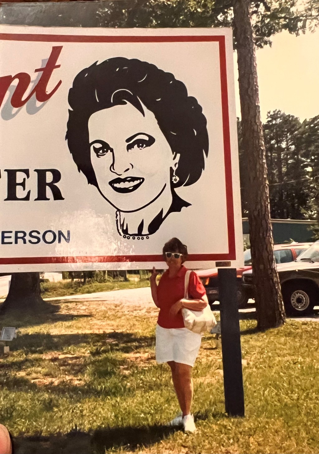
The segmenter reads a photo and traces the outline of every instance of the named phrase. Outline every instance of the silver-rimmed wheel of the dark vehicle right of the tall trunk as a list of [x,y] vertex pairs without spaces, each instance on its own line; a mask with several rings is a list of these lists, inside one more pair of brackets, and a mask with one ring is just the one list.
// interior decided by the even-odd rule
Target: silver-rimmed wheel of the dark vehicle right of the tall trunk
[[316,293],[305,284],[290,284],[283,290],[285,311],[288,315],[302,316],[313,311]]

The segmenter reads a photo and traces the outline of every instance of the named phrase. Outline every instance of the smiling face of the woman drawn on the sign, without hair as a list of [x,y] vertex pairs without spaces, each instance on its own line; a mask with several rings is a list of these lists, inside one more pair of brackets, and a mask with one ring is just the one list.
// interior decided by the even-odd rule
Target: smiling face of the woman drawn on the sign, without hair
[[[170,188],[178,162],[154,114],[132,104],[103,109],[88,121],[91,163],[98,188],[113,207],[137,211]],[[170,191],[169,191],[170,193]]]

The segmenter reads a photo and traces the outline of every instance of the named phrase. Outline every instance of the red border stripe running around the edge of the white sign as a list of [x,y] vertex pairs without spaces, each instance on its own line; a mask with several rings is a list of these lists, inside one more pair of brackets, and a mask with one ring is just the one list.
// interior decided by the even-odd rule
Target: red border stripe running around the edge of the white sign
[[[221,71],[221,106],[224,140],[224,162],[226,178],[226,211],[228,232],[228,253],[190,254],[189,261],[236,260],[234,202],[231,171],[231,142],[228,109],[227,66],[225,36],[94,36],[94,35],[46,35],[0,33],[0,40],[34,42],[73,43],[167,43],[167,42],[218,42]],[[106,263],[106,262],[162,262],[161,255],[134,256],[79,256],[79,257],[6,257],[0,258],[0,265],[22,265],[41,263]]]

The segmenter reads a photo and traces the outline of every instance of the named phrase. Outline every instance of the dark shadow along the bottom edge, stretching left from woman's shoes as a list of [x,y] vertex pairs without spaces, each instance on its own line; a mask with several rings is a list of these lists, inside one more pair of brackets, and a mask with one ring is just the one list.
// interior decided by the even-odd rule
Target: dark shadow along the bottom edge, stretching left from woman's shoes
[[15,454],[105,454],[106,450],[132,452],[167,438],[175,428],[149,427],[101,428],[91,432],[72,430],[68,434],[14,438]]

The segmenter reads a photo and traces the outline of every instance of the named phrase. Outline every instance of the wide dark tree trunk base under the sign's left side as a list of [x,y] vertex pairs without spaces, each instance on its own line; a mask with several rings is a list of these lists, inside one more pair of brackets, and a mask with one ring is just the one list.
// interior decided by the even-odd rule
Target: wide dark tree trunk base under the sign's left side
[[46,309],[48,304],[43,301],[40,290],[39,273],[13,273],[11,275],[8,296],[1,305],[1,313],[19,311],[32,314]]

